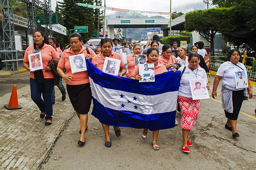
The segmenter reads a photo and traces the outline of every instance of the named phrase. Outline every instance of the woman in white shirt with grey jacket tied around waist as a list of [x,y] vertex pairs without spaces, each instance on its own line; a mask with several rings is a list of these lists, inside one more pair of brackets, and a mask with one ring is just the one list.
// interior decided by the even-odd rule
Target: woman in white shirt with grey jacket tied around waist
[[236,122],[243,101],[248,100],[246,90],[248,90],[249,99],[252,99],[252,90],[248,77],[248,88],[236,88],[236,77],[234,73],[244,71],[247,76],[244,64],[240,63],[242,61],[240,56],[241,54],[238,49],[232,49],[228,52],[227,62],[220,65],[212,88],[212,98],[215,99],[215,96],[217,96],[217,87],[221,78],[223,78],[221,85],[221,107],[224,109],[226,118],[228,118],[225,128],[232,131],[233,137],[239,137],[236,129]]

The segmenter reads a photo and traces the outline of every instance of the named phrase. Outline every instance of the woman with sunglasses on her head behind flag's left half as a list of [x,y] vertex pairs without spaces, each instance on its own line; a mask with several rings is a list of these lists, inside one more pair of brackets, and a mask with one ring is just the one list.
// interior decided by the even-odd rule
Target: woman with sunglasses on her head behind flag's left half
[[[101,47],[101,52],[92,59],[92,63],[96,67],[98,67],[98,69],[100,69],[102,71],[106,57],[121,60],[120,70],[119,70],[120,73],[118,73],[117,76],[122,77],[126,73],[126,68],[125,68],[124,61],[123,61],[121,55],[112,51],[113,43],[112,43],[111,38],[110,37],[102,37],[100,40],[100,47]],[[105,133],[105,146],[111,147],[111,139],[109,137],[109,125],[106,125],[103,123],[101,123],[101,125],[102,125],[102,128]],[[119,137],[121,135],[120,128],[117,126],[114,126],[114,130],[115,130],[116,136]]]

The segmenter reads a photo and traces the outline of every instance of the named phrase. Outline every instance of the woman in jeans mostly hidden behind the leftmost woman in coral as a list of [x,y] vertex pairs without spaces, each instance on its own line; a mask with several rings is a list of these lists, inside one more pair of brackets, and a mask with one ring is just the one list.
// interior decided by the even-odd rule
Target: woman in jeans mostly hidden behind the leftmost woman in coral
[[[50,45],[56,50],[56,52],[58,54],[62,53],[61,49],[56,48],[55,47],[55,39],[50,37],[48,42],[50,43]],[[49,66],[47,66],[48,70],[51,70],[51,68]],[[66,89],[64,87],[64,85],[62,85],[62,78],[60,78],[60,83],[59,85],[57,85],[57,87],[60,89],[60,92],[62,94],[61,100],[64,101],[66,99]],[[55,90],[54,90],[54,86],[52,89],[52,104],[55,103]]]

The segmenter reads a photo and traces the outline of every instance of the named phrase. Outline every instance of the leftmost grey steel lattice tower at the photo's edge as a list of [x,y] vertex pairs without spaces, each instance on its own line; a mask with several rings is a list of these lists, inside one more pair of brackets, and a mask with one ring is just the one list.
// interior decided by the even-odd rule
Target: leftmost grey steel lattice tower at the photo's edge
[[[12,0],[1,0],[1,12],[2,12],[2,24],[3,24],[3,35],[4,35],[4,49],[8,51],[15,50],[15,41],[14,41],[14,25],[13,25],[13,11],[12,11]],[[6,60],[14,60],[15,55],[12,52],[6,52]],[[11,69],[14,70],[14,62],[11,64]]]

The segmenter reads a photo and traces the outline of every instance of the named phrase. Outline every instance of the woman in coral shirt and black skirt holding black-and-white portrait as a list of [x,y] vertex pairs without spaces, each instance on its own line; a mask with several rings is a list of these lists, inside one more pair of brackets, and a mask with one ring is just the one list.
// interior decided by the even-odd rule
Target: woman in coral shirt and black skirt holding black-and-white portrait
[[[57,71],[59,75],[66,80],[69,100],[76,111],[76,115],[80,119],[81,130],[79,133],[81,133],[81,135],[78,144],[84,145],[84,133],[88,128],[87,121],[88,112],[92,103],[92,92],[87,71],[72,74],[69,57],[73,55],[84,54],[87,60],[92,60],[92,57],[96,56],[96,54],[92,51],[91,48],[87,48],[90,52],[90,54],[87,54],[86,47],[82,46],[82,36],[79,33],[72,33],[69,35],[68,40],[71,47],[62,53],[58,63]],[[67,70],[66,74],[64,73],[65,69]]]

